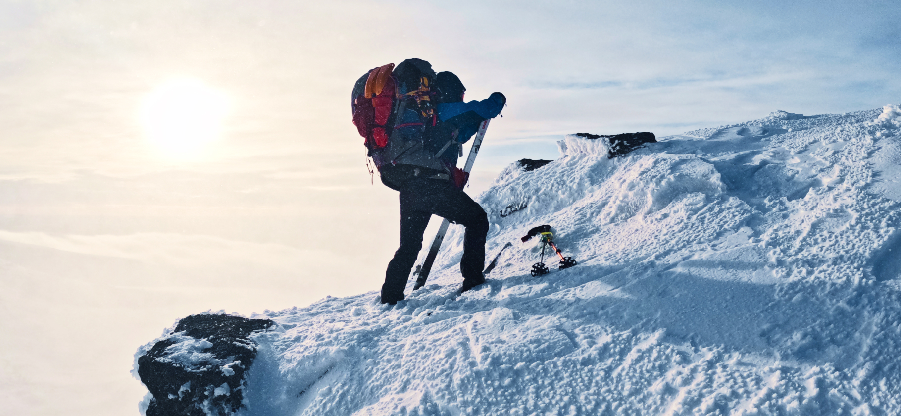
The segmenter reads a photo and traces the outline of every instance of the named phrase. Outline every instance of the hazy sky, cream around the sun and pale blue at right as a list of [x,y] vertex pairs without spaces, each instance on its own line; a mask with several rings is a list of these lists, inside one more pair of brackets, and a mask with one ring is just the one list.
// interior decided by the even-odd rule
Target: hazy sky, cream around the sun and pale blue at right
[[[399,218],[350,122],[370,68],[507,96],[478,195],[563,134],[896,104],[898,41],[890,1],[0,0],[0,405],[134,414],[133,352],[178,318],[377,290]],[[166,124],[191,103],[218,110]]]

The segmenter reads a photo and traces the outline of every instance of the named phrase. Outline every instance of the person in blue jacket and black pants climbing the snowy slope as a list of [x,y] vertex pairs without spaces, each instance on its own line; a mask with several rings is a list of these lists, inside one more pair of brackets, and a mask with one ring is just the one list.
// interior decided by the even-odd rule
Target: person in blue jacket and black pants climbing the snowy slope
[[[412,71],[405,67],[409,61],[413,62],[408,66],[416,64],[415,68],[421,73],[431,70],[431,65],[421,59],[407,59],[394,71],[402,85],[405,71]],[[423,232],[432,214],[466,227],[460,259],[463,276],[460,292],[485,283],[482,270],[485,267],[487,214],[463,192],[467,178],[461,175],[456,163],[460,146],[475,134],[480,122],[500,114],[506,97],[493,93],[487,99],[464,103],[466,87],[460,78],[451,72],[441,72],[432,79],[434,84],[429,90],[436,105],[432,107],[431,122],[427,119],[423,122],[422,101],[419,108],[414,108],[410,101],[411,104],[402,107],[405,112],[396,115],[394,131],[385,148],[390,158],[382,156],[377,160],[373,157],[382,182],[399,191],[401,217],[400,246],[388,262],[381,303],[395,304],[405,299],[407,278],[423,247]],[[409,88],[401,88],[405,89]],[[415,141],[420,145],[409,144]],[[392,146],[403,146],[404,150],[390,149]]]

